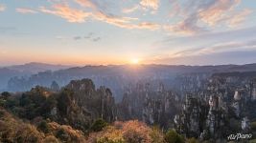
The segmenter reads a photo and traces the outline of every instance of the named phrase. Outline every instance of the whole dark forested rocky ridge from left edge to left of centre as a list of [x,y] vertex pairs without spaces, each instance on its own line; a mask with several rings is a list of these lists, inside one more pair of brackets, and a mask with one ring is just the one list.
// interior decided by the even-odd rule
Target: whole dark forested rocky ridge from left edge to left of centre
[[0,96],[0,106],[6,107],[21,118],[50,119],[87,131],[101,118],[115,120],[116,105],[112,93],[105,87],[96,89],[90,79],[73,80],[58,92],[36,86],[30,92]]

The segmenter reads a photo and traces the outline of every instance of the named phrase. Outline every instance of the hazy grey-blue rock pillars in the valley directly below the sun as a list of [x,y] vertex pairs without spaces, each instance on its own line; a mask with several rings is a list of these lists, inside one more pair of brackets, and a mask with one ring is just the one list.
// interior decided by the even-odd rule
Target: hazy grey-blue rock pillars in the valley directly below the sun
[[120,119],[139,119],[150,125],[168,128],[178,111],[179,97],[175,92],[166,91],[162,83],[152,90],[149,83],[138,83],[129,87],[119,104]]

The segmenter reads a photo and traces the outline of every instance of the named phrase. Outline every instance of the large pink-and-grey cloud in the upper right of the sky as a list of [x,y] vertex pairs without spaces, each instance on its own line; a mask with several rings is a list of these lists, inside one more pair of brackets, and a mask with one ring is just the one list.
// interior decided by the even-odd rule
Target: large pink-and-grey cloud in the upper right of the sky
[[183,34],[211,31],[221,24],[234,27],[242,23],[252,12],[252,10],[235,10],[241,0],[188,0],[185,1],[185,5],[176,0],[171,2],[175,10],[172,10],[171,16],[179,15],[182,20],[174,25],[164,26],[164,29]]

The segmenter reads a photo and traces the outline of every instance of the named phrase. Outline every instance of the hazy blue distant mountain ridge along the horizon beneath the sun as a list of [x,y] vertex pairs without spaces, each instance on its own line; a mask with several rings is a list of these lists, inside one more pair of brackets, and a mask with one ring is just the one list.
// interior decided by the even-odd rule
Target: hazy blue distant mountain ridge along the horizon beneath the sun
[[36,85],[50,87],[53,81],[56,81],[62,87],[71,80],[90,78],[96,87],[105,86],[110,88],[113,95],[119,97],[131,83],[155,81],[154,83],[164,82],[165,85],[172,85],[177,75],[186,73],[206,73],[211,75],[218,72],[256,72],[256,64],[219,66],[153,64],[84,66],[55,72],[38,72],[26,78],[11,78],[8,81],[7,90],[11,92],[24,92]]

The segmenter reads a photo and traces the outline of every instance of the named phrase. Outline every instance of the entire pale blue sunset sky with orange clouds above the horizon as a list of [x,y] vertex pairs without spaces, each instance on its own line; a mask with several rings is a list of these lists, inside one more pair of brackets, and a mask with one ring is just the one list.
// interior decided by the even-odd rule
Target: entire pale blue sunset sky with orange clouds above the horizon
[[0,0],[0,66],[256,63],[254,0]]

